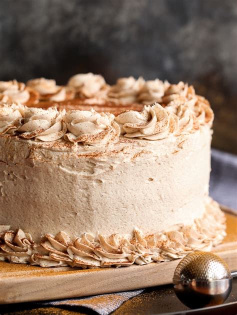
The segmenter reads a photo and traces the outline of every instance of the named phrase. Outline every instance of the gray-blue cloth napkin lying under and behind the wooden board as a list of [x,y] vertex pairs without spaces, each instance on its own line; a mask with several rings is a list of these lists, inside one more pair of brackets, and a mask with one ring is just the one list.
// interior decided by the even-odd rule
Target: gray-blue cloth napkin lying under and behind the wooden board
[[[219,203],[237,209],[237,156],[221,152],[216,149],[211,150],[211,176],[210,176],[210,196]],[[87,307],[101,315],[109,314],[117,309],[123,302],[134,297],[144,289],[99,294],[89,297],[68,298],[55,301],[34,302],[40,307]]]

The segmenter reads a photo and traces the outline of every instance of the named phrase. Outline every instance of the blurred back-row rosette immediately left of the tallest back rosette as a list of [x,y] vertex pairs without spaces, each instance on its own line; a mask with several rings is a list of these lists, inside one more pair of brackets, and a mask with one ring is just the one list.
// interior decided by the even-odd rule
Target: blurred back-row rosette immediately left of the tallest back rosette
[[39,93],[40,100],[63,101],[74,97],[74,89],[68,86],[56,85],[56,81],[44,77],[27,81],[30,86]]

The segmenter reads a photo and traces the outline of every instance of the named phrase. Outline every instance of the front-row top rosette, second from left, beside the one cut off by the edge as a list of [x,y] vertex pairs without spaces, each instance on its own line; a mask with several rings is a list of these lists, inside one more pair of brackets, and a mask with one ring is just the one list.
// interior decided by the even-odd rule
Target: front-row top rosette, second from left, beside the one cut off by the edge
[[58,111],[56,107],[26,108],[23,124],[18,128],[20,136],[25,139],[54,141],[66,132],[66,125],[62,120],[65,109]]

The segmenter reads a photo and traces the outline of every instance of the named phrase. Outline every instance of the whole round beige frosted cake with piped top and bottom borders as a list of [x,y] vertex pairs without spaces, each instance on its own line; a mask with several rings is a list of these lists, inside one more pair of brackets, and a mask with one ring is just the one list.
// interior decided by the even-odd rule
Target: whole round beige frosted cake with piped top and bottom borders
[[110,86],[87,73],[66,86],[30,80],[22,86],[36,98],[20,103],[9,82],[0,82],[0,259],[121,266],[221,242],[224,215],[208,197],[213,112],[192,86],[141,77]]

